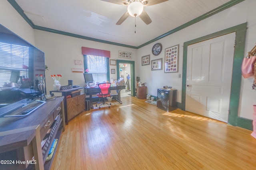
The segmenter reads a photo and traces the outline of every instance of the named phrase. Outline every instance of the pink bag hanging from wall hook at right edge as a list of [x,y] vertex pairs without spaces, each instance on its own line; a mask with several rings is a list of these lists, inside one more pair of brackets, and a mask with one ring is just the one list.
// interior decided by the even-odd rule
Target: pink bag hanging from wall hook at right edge
[[254,63],[256,61],[256,56],[246,57],[242,63],[242,75],[244,78],[249,78],[253,76]]

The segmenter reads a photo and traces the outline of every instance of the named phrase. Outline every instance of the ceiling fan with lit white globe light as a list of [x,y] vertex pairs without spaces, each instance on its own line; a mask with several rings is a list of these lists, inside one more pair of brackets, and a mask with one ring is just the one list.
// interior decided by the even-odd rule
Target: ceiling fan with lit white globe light
[[117,21],[116,25],[120,25],[121,23],[128,18],[128,16],[137,17],[139,16],[144,23],[147,25],[152,22],[146,11],[143,9],[144,6],[151,6],[160,4],[162,2],[168,0],[102,0],[106,2],[111,2],[114,4],[124,5],[127,7],[127,12]]

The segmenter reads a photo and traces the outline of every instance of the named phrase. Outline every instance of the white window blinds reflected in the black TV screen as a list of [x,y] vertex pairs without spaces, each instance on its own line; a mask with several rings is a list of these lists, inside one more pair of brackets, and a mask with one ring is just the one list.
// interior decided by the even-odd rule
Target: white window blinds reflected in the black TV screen
[[10,82],[12,70],[19,70],[20,76],[26,76],[26,69],[22,65],[28,66],[29,47],[0,43],[0,87],[5,82]]

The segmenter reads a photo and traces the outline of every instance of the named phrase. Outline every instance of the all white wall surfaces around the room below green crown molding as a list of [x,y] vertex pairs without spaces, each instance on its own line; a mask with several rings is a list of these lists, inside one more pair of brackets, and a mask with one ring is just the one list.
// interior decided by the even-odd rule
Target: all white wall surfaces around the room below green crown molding
[[[109,50],[111,53],[111,59],[121,59],[118,58],[118,51],[132,52],[132,61],[136,61],[135,76],[139,76],[141,82],[147,83],[146,86],[148,86],[148,93],[156,96],[157,88],[161,88],[165,85],[172,86],[178,89],[178,102],[181,102],[182,78],[178,78],[178,75],[182,75],[183,43],[214,33],[216,31],[248,22],[245,51],[250,51],[256,43],[256,20],[254,13],[255,6],[255,0],[245,0],[232,8],[229,8],[157,41],[162,43],[163,51],[165,48],[179,44],[179,68],[177,73],[164,73],[164,70],[151,71],[150,65],[141,66],[141,57],[148,54],[150,54],[151,60],[159,58],[164,59],[163,52],[157,57],[151,53],[152,46],[157,42],[151,43],[150,45],[146,45],[145,47],[136,50],[58,35],[45,31],[33,31],[30,25],[26,23],[26,21],[7,1],[0,2],[0,24],[4,25],[28,42],[35,44],[36,47],[45,52],[46,64],[49,66],[49,70],[46,71],[46,83],[48,91],[53,90],[53,80],[51,80],[50,77],[51,74],[62,74],[63,77],[60,80],[62,85],[68,84],[68,80],[70,79],[74,80],[74,84],[80,86],[84,85],[82,74],[72,73],[71,71],[71,68],[81,68],[81,66],[74,65],[74,60],[83,59],[81,47],[84,46]],[[247,53],[244,55],[246,56]],[[116,66],[110,66],[110,69],[116,69]],[[110,74],[110,78],[116,79],[116,74]],[[256,92],[251,90],[252,83],[252,78],[242,78],[239,116],[248,119],[252,119],[252,105],[256,104]]]

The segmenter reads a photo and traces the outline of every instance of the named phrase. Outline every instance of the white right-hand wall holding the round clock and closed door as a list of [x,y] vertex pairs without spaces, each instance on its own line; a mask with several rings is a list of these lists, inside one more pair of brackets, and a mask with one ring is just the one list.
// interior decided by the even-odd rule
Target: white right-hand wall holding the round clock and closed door
[[[255,6],[255,0],[246,0],[236,6],[224,10],[223,12],[211,16],[210,18],[195,23],[194,25],[186,27],[181,31],[173,33],[172,35],[164,37],[159,41],[156,41],[138,49],[137,63],[139,67],[137,76],[140,76],[141,82],[147,82],[148,93],[153,96],[157,96],[157,88],[162,88],[162,86],[166,85],[172,86],[173,88],[178,90],[178,102],[181,102],[182,78],[178,78],[178,74],[181,74],[182,77],[182,46],[186,41],[190,41],[204,35],[209,35],[211,33],[248,22],[245,51],[250,51],[256,43],[256,20],[254,14]],[[164,60],[163,51],[158,56],[154,56],[151,53],[152,46],[158,42],[162,44],[163,51],[165,48],[179,44],[179,68],[177,73],[164,73],[164,70],[151,71],[150,65],[141,66],[141,57],[148,54],[150,54],[150,60],[160,58]],[[244,55],[247,55],[247,53],[245,53]],[[247,119],[252,119],[252,105],[256,104],[256,92],[254,90],[251,90],[252,83],[252,78],[242,79],[242,93],[240,94],[241,99],[239,116]]]

